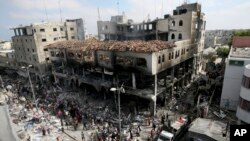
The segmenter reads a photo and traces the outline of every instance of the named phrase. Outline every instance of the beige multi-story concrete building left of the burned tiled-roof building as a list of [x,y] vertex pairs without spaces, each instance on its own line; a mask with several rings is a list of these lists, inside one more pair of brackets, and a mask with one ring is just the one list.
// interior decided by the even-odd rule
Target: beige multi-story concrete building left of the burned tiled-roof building
[[33,65],[31,70],[36,74],[46,71],[44,46],[57,41],[84,40],[82,19],[66,20],[65,22],[32,23],[29,26],[12,28],[13,48],[17,61],[16,68]]

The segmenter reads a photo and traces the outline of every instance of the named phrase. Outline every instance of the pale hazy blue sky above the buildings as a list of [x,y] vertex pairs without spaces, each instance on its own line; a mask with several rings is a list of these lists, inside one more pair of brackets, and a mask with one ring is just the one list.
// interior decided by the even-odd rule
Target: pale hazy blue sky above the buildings
[[[186,1],[202,4],[207,30],[250,28],[249,0]],[[183,0],[0,0],[0,40],[11,39],[14,35],[11,27],[42,21],[59,22],[61,17],[63,21],[82,18],[87,33],[97,34],[98,8],[101,20],[109,21],[111,16],[124,12],[129,19],[142,22],[148,17],[153,20],[164,14],[172,15],[173,9],[182,3]]]

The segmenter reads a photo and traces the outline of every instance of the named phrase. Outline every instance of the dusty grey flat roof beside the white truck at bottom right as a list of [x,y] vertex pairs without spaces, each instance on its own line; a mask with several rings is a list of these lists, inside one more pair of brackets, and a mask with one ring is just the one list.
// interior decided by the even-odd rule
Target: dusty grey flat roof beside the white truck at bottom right
[[188,131],[206,135],[217,141],[222,141],[226,139],[226,137],[222,136],[222,134],[226,131],[226,126],[226,124],[220,121],[197,118],[192,122],[191,127],[188,129]]

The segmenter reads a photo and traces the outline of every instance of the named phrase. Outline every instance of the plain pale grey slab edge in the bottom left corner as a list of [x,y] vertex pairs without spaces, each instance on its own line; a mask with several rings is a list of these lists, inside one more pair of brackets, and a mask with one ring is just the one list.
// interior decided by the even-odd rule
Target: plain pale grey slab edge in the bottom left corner
[[0,106],[0,141],[16,141],[12,132],[11,123],[7,114],[7,106]]

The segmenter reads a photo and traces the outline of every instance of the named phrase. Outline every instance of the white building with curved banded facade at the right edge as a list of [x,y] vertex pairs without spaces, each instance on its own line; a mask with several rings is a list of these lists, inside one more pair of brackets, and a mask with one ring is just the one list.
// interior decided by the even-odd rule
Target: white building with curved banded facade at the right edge
[[236,116],[241,121],[250,123],[250,64],[245,66]]

